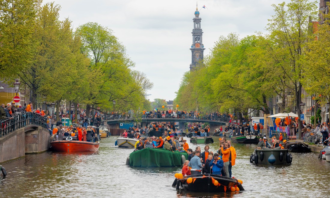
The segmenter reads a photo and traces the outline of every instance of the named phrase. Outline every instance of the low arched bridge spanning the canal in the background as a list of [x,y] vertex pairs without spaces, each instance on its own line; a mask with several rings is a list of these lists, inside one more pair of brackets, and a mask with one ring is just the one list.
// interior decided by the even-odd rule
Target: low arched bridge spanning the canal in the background
[[[104,124],[108,125],[109,128],[119,129],[120,123],[125,122],[136,122],[136,119],[113,119],[113,120],[105,120]],[[210,131],[213,132],[216,128],[221,125],[227,125],[227,122],[217,121],[217,120],[205,120],[205,119],[190,119],[190,118],[142,118],[139,119],[141,123],[141,127],[147,126],[150,122],[179,122],[180,129],[185,131],[185,123],[188,122],[203,122],[208,123],[210,125]]]

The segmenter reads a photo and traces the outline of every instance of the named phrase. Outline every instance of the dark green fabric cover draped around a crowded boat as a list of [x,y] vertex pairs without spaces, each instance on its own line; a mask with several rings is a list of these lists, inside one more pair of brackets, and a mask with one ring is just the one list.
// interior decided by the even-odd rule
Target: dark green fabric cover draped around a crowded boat
[[188,159],[188,153],[165,149],[142,149],[129,154],[129,165],[134,167],[182,166],[181,155]]

